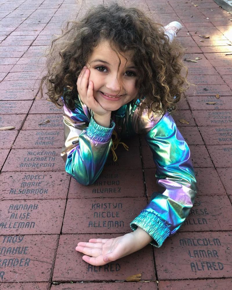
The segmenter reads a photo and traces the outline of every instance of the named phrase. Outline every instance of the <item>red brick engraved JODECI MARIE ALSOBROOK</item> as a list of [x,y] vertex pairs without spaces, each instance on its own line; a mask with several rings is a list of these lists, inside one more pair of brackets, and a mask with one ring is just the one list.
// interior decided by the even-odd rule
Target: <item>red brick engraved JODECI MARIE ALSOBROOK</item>
[[65,199],[69,181],[66,172],[2,172],[0,199]]

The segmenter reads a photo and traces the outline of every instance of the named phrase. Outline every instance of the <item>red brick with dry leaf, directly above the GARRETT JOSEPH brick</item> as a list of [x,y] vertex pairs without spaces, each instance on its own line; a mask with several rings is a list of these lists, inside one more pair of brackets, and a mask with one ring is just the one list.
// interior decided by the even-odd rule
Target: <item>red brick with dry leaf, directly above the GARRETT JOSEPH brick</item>
[[[232,109],[232,100],[229,96],[220,96],[219,99],[214,96],[188,96],[190,108],[192,110],[228,110]],[[216,102],[216,104],[206,104]]]

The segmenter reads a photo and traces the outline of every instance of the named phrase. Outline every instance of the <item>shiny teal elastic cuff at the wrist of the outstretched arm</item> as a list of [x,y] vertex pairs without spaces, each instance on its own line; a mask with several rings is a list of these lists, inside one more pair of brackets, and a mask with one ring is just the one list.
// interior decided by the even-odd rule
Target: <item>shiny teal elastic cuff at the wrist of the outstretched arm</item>
[[141,211],[141,213],[130,223],[131,229],[135,231],[139,226],[148,233],[154,240],[150,242],[154,247],[161,247],[170,230],[166,224],[154,213]]

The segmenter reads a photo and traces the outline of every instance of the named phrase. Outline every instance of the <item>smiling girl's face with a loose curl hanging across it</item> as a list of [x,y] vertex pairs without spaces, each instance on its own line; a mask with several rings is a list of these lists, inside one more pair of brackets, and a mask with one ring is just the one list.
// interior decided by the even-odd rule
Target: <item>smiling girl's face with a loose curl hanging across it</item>
[[[93,81],[93,96],[105,110],[118,110],[138,95],[135,88],[138,71],[131,61],[132,55],[131,51],[117,55],[108,41],[102,41],[87,61],[90,70],[88,84]],[[121,64],[117,73],[119,58]]]

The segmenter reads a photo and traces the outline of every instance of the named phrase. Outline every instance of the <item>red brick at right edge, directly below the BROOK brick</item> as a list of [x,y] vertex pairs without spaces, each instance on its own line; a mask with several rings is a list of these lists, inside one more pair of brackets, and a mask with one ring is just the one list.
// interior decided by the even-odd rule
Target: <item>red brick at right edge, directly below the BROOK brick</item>
[[206,145],[215,167],[232,166],[232,145]]

